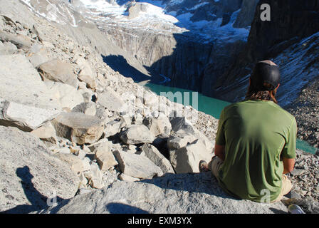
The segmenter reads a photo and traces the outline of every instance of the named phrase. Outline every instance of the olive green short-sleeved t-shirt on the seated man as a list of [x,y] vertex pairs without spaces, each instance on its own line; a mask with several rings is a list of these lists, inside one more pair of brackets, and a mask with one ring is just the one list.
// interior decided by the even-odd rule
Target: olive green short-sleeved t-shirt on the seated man
[[[245,100],[221,111],[216,144],[225,145],[219,183],[241,199],[273,201],[281,192],[282,158],[296,158],[296,119],[266,100]],[[266,191],[265,191],[266,190]]]

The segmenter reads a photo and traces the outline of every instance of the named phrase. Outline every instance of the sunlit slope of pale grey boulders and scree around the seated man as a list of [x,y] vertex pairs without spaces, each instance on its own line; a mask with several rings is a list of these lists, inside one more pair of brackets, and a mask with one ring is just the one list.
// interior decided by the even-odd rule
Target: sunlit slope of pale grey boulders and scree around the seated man
[[[227,197],[214,177],[198,174],[199,160],[213,156],[218,120],[138,86],[94,46],[21,12],[26,24],[0,16],[1,212],[75,205],[104,213],[115,203],[161,213],[288,212],[283,202]],[[297,166],[296,193],[318,203],[318,156],[298,152]]]

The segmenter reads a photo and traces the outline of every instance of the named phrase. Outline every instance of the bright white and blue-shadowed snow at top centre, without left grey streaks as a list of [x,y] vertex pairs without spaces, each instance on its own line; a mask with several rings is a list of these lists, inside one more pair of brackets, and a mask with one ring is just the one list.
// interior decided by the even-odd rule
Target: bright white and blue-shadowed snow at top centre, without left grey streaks
[[[127,19],[127,6],[118,5],[118,4],[109,4],[106,1],[98,0],[80,0],[85,7],[92,11],[94,16],[89,16],[90,19],[95,21],[103,21],[114,24],[116,21],[119,24],[126,23],[135,24],[137,27],[142,27],[139,25],[146,26],[147,29],[159,28],[159,26],[155,26],[155,24],[162,23],[167,24],[164,26],[167,31],[171,31],[174,33],[184,33],[184,32],[192,32],[201,36],[206,41],[217,40],[223,42],[233,42],[236,40],[245,40],[249,36],[249,28],[234,28],[232,25],[236,21],[236,17],[239,11],[234,12],[231,16],[231,21],[229,24],[225,26],[221,26],[222,19],[216,19],[216,21],[192,21],[192,14],[190,11],[194,11],[201,6],[205,6],[207,3],[202,2],[196,4],[194,7],[189,9],[189,11],[185,14],[179,14],[177,16],[176,11],[165,10],[166,6],[162,5],[162,1],[158,0],[143,0],[138,1],[138,4],[145,4],[147,7],[147,11],[140,11],[140,14],[135,19]],[[169,4],[176,5],[181,4],[184,0],[177,1],[169,1]],[[153,27],[153,28],[152,28]],[[155,29],[156,30],[156,29]]]

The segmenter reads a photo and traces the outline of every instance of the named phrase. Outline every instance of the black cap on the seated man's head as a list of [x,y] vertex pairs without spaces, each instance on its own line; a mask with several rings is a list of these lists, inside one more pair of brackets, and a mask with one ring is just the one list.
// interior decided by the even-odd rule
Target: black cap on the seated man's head
[[[261,61],[256,63],[253,73],[251,73],[251,84],[261,90],[274,90],[281,80],[281,73],[278,66],[271,61]],[[263,83],[269,83],[272,88],[265,88]]]

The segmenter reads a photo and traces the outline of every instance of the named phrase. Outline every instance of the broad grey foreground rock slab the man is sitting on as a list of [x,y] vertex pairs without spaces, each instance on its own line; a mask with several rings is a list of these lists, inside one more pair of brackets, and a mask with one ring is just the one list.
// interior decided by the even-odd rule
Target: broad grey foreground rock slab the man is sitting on
[[[204,172],[167,174],[140,182],[115,182],[103,190],[76,196],[41,213],[286,214],[288,209],[282,202],[261,204],[234,199],[226,195],[210,172]],[[127,224],[127,220],[122,224]]]

